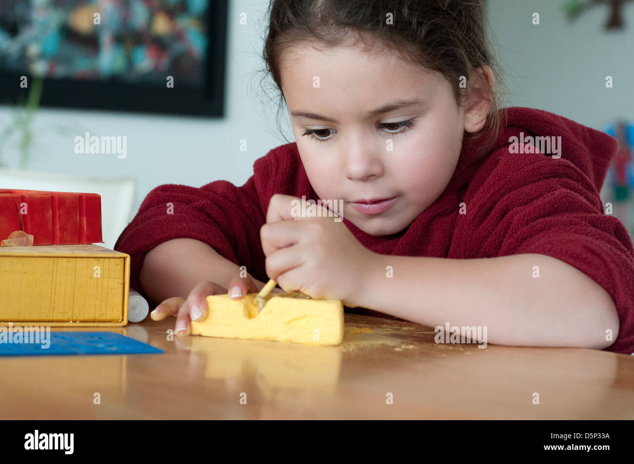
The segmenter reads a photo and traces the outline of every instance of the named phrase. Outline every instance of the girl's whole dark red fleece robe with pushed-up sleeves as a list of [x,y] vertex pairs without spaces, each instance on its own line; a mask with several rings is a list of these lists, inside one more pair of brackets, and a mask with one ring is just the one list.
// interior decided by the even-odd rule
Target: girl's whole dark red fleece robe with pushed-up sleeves
[[[465,141],[441,196],[407,229],[366,234],[343,222],[361,244],[379,254],[437,258],[494,258],[538,253],[574,266],[607,291],[619,313],[618,339],[607,351],[634,351],[634,251],[619,220],[605,215],[599,192],[618,142],[598,130],[531,108],[508,108],[495,146]],[[503,121],[504,122],[504,121]],[[552,153],[510,153],[510,137],[561,137]],[[529,147],[524,145],[524,151]],[[268,281],[260,228],[276,193],[318,200],[295,143],[276,147],[254,163],[241,187],[216,180],[200,188],[160,185],[141,204],[115,249],[132,257],[131,287],[139,285],[145,254],[181,237],[205,242],[224,258]],[[173,214],[167,214],[167,203]],[[466,213],[460,214],[465,203]],[[388,317],[372,310],[368,315]]]

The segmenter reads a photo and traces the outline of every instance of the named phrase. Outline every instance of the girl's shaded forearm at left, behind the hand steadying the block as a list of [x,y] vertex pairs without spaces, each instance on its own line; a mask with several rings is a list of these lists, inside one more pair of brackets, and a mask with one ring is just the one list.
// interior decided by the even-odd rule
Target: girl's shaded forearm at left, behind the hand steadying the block
[[[227,288],[240,267],[195,239],[173,239],[148,251],[139,274],[143,291],[160,303],[172,296],[187,298],[200,282]],[[253,279],[259,289],[264,284]]]

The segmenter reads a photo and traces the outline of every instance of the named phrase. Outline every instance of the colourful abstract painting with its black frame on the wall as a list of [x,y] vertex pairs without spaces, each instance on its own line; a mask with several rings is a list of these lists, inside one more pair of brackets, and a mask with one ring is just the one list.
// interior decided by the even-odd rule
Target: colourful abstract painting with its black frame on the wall
[[0,1],[0,103],[223,116],[227,3]]

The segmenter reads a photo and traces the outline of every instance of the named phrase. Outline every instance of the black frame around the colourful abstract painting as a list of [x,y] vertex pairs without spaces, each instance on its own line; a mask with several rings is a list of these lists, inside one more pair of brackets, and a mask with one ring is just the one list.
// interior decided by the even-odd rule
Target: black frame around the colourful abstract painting
[[[44,78],[40,106],[81,110],[125,111],[186,116],[224,116],[228,0],[210,0],[204,88],[122,84],[120,82]],[[0,104],[25,101],[29,88],[20,87],[28,73],[0,69]]]

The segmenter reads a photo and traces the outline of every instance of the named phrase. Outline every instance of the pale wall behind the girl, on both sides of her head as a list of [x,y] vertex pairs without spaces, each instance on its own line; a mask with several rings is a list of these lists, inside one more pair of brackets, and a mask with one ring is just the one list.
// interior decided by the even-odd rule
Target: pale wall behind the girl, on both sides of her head
[[[607,34],[607,8],[600,6],[567,24],[561,1],[486,0],[507,72],[508,104],[553,111],[602,129],[614,116],[634,119],[634,3],[624,7],[626,29]],[[261,48],[268,1],[230,1],[226,116],[221,119],[131,115],[42,109],[35,121],[36,146],[29,168],[70,175],[135,176],[133,211],[160,184],[200,186],[217,179],[242,185],[253,162],[285,141],[278,134],[273,102],[259,89]],[[538,26],[531,15],[540,13]],[[240,25],[247,13],[247,25]],[[605,76],[614,88],[605,89]],[[44,89],[46,92],[46,89]],[[0,128],[11,110],[0,108]],[[288,116],[286,116],[288,118]],[[59,135],[55,125],[72,127]],[[288,128],[288,123],[285,126]],[[74,136],[126,135],[127,158],[75,154]],[[287,137],[292,132],[286,130]],[[239,150],[240,139],[248,151]],[[0,147],[9,167],[18,166],[15,147]]]

